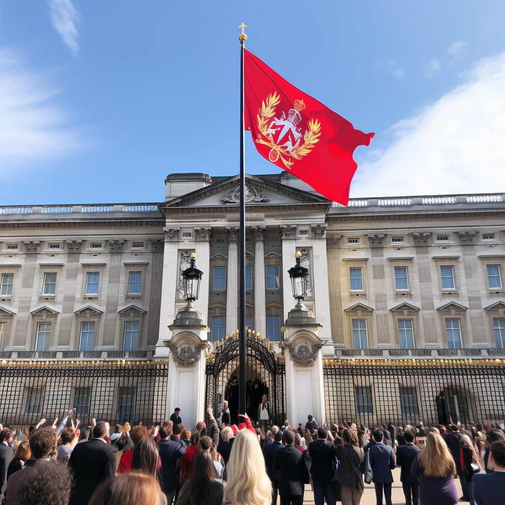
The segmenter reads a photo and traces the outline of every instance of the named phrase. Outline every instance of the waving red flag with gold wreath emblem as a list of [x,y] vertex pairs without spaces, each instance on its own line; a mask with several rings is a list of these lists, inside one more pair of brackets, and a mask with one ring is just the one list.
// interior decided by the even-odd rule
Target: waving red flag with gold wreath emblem
[[347,205],[358,168],[352,154],[369,145],[374,133],[355,130],[245,49],[244,75],[245,129],[258,152],[326,198]]

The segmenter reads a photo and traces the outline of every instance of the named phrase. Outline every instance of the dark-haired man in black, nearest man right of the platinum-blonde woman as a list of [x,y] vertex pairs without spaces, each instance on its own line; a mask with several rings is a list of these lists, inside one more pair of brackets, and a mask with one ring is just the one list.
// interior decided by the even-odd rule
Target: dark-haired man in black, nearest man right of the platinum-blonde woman
[[305,467],[305,458],[301,451],[294,447],[294,432],[285,430],[285,448],[276,450],[272,470],[280,470],[279,494],[281,505],[301,505],[304,498],[305,482],[309,475]]

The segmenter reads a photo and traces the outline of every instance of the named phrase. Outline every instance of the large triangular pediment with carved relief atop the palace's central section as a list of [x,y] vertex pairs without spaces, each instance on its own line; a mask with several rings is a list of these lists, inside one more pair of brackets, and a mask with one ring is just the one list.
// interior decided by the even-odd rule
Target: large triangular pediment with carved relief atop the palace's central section
[[[234,207],[238,206],[239,176],[215,182],[205,188],[179,196],[160,205],[160,209],[180,207]],[[296,204],[323,204],[331,202],[323,196],[293,188],[279,182],[251,175],[245,176],[246,206],[278,206]]]

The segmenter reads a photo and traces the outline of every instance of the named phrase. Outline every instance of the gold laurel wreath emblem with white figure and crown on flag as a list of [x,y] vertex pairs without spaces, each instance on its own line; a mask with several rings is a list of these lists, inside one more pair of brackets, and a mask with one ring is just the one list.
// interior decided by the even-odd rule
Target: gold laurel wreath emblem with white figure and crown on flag
[[[305,109],[304,100],[294,100],[293,108],[289,109],[288,115],[282,111],[280,118],[276,118],[275,107],[279,105],[281,97],[275,91],[270,93],[262,103],[258,114],[258,134],[256,142],[271,147],[268,159],[275,163],[279,158],[287,169],[294,164],[294,160],[301,160],[307,156],[314,145],[319,142],[321,135],[321,123],[316,119],[307,121],[308,129],[301,133],[298,123],[301,121],[300,112]],[[274,118],[271,120],[271,118]],[[279,126],[279,128],[275,128]],[[277,133],[280,130],[280,133]],[[293,161],[291,161],[294,159]]]

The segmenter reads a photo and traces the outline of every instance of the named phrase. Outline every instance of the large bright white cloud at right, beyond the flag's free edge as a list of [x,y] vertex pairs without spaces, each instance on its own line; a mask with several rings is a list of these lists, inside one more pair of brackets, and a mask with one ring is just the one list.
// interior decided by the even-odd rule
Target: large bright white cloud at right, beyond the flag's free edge
[[505,53],[391,130],[391,145],[358,168],[353,196],[504,191]]

